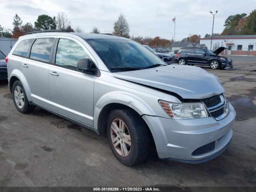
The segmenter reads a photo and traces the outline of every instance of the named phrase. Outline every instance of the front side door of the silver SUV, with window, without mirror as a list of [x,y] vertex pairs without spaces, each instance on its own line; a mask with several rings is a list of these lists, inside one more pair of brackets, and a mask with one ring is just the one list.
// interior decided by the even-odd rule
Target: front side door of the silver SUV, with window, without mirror
[[71,37],[57,39],[48,70],[50,95],[52,110],[92,126],[95,75],[77,70],[77,62],[83,58],[92,56],[80,41]]

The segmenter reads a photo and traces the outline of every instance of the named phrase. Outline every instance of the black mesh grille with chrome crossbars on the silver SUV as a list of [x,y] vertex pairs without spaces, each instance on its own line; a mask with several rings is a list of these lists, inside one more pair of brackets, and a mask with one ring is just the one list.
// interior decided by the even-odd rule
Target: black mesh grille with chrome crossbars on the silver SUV
[[224,96],[217,95],[203,100],[210,115],[216,120],[221,120],[228,114],[228,104]]

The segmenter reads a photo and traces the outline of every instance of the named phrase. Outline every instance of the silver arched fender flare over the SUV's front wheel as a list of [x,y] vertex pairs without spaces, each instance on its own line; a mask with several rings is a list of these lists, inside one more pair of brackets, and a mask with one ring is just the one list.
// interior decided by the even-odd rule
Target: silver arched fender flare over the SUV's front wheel
[[96,130],[98,130],[98,118],[101,110],[104,108],[104,106],[112,103],[126,105],[134,109],[140,115],[143,115],[143,114],[148,114],[152,116],[156,115],[154,110],[152,110],[152,108],[150,108],[150,106],[138,96],[135,96],[127,92],[120,92],[120,91],[109,92],[103,95],[95,104],[94,127]]

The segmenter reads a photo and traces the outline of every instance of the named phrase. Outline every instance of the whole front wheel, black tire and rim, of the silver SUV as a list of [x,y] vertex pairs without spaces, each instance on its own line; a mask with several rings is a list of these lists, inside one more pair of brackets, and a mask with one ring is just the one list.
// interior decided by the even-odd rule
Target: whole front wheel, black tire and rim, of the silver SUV
[[114,156],[122,164],[132,166],[146,159],[150,134],[143,119],[132,110],[116,109],[110,112],[107,137]]

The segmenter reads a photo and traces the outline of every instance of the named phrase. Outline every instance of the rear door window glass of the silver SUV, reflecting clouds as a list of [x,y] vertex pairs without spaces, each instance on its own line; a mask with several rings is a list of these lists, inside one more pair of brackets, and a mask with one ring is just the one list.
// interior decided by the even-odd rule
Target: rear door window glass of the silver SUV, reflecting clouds
[[30,58],[49,62],[54,38],[38,38],[32,45]]

